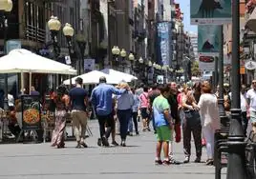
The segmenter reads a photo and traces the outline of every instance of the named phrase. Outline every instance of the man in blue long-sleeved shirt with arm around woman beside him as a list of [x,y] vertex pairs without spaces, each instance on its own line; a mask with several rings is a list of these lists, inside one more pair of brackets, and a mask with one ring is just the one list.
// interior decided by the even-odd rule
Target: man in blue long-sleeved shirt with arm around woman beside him
[[[112,95],[121,95],[126,89],[116,89],[111,85],[107,85],[106,82],[107,80],[104,76],[99,78],[99,85],[92,91],[91,102],[96,110],[100,139],[103,146],[107,147],[109,146],[108,137],[113,129],[113,127],[108,127],[107,131],[105,130],[105,124],[112,123],[111,120],[113,120]],[[98,141],[98,145],[101,145],[100,141]]]

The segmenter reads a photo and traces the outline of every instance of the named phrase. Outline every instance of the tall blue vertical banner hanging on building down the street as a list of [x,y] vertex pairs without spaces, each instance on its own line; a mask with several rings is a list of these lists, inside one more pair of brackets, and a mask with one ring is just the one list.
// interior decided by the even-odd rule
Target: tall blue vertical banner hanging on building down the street
[[158,41],[157,41],[157,51],[158,51],[158,63],[160,65],[171,65],[171,23],[170,22],[160,22],[157,25],[158,30]]

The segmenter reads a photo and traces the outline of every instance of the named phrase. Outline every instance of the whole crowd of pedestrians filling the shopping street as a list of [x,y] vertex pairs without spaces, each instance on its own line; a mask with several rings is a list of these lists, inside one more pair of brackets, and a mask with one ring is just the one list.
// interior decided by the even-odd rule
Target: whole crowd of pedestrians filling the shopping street
[[[194,162],[202,162],[203,145],[206,147],[206,165],[213,165],[214,161],[214,133],[220,129],[218,109],[219,89],[211,88],[208,82],[191,84],[153,85],[143,84],[139,88],[131,88],[127,83],[120,82],[116,87],[108,85],[105,77],[100,77],[99,84],[91,94],[82,88],[82,79],[75,80],[76,86],[69,92],[65,87],[58,88],[55,97],[56,120],[53,131],[52,146],[64,148],[65,115],[71,111],[75,129],[76,148],[87,148],[85,132],[87,121],[94,110],[98,121],[98,146],[110,145],[126,147],[127,135],[139,135],[141,132],[153,129],[157,138],[155,163],[180,164],[175,160],[173,147],[183,138],[183,163],[191,161],[191,138],[195,143]],[[243,125],[246,134],[248,116],[252,121],[252,128],[256,131],[256,81],[252,89],[241,90],[241,107]],[[231,103],[231,93],[224,88],[224,108],[228,113]],[[116,141],[117,133],[120,144]],[[152,132],[153,133],[153,132]],[[111,136],[112,142],[109,143]],[[161,158],[163,149],[163,158]]]

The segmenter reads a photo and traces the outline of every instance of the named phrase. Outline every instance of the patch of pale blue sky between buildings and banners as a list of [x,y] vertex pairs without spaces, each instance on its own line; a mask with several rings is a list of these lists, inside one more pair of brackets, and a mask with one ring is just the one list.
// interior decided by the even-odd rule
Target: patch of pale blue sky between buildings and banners
[[184,30],[197,32],[197,26],[190,25],[190,0],[175,0],[176,3],[180,3],[181,11],[184,13]]

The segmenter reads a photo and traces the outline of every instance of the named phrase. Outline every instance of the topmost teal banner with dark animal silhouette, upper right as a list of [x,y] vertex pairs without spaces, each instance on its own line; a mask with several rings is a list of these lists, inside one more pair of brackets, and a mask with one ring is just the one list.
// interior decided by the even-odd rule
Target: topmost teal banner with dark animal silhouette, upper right
[[231,24],[231,16],[231,0],[190,0],[192,25]]

